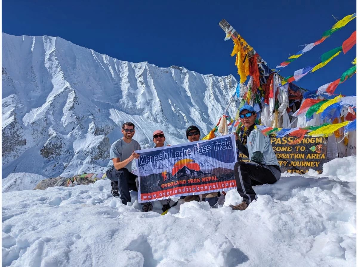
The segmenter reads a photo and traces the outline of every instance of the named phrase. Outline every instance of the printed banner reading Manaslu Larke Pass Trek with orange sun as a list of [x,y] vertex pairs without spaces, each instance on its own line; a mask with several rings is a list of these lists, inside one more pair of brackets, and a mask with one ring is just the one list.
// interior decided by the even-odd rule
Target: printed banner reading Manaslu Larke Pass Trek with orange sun
[[140,203],[236,188],[233,134],[135,152]]

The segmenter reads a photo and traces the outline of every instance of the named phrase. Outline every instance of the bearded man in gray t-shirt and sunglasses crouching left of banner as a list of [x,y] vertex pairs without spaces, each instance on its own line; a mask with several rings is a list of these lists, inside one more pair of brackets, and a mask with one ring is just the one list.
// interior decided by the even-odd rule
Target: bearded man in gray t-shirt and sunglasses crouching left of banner
[[[140,145],[132,137],[135,129],[132,122],[125,122],[122,125],[123,137],[114,142],[110,151],[110,162],[108,163],[106,175],[111,180],[112,195],[120,197],[123,204],[131,201],[129,190],[137,191],[137,176],[132,174],[132,160],[138,159],[139,154],[135,150],[140,150]],[[153,209],[153,205],[148,202],[142,207],[144,212]]]

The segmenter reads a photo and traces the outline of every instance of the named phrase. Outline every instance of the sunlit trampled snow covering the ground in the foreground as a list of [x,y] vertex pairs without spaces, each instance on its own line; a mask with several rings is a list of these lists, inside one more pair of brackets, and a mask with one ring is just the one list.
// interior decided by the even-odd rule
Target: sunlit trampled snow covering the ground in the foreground
[[244,211],[236,190],[161,216],[123,205],[108,180],[3,193],[3,266],[355,266],[356,157],[319,175],[283,174],[255,186]]

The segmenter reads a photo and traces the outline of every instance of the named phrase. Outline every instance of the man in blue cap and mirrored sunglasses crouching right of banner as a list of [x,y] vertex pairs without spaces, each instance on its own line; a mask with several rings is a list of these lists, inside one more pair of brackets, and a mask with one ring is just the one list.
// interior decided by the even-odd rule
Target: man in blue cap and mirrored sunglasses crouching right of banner
[[281,177],[281,169],[270,137],[256,127],[257,114],[252,106],[244,105],[240,109],[240,120],[245,132],[240,138],[235,133],[236,146],[250,161],[238,161],[234,166],[237,191],[242,196],[242,203],[230,205],[234,210],[244,210],[256,200],[254,185],[273,184]]

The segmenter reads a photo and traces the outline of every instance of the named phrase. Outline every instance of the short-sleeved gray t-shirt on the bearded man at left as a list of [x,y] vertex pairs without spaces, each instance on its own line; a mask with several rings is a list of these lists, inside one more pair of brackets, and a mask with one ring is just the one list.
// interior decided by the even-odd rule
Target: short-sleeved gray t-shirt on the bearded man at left
[[[123,138],[118,139],[111,145],[110,150],[110,162],[108,162],[108,170],[114,168],[113,160],[115,157],[118,157],[120,161],[128,159],[130,155],[132,155],[134,150],[140,150],[140,145],[134,139],[128,144],[126,143]],[[132,161],[130,161],[124,168],[132,171]]]

